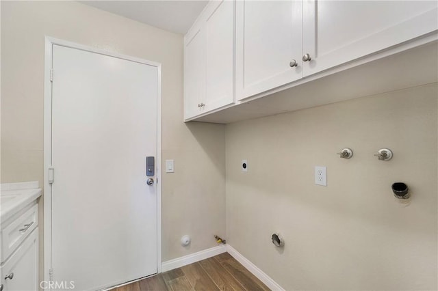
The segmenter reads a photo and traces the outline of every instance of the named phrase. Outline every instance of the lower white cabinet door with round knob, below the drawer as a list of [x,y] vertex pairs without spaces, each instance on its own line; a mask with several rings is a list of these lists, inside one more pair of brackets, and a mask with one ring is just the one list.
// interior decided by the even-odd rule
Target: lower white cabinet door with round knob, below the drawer
[[[3,290],[38,290],[38,227],[3,264],[0,273]],[[12,273],[12,279],[5,279]]]

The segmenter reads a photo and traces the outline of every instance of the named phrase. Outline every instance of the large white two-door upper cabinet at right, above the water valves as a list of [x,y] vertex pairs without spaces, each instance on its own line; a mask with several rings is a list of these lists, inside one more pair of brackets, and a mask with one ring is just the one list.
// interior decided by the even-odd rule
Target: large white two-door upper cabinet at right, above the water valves
[[236,100],[432,33],[437,3],[237,1]]

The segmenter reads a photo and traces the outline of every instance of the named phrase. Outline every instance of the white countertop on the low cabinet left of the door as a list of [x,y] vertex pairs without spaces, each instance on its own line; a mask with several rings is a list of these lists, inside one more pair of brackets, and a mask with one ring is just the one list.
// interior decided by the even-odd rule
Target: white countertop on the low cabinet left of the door
[[[30,188],[29,188],[30,187]],[[41,196],[38,183],[2,184],[0,191],[0,221],[12,217],[16,212]]]

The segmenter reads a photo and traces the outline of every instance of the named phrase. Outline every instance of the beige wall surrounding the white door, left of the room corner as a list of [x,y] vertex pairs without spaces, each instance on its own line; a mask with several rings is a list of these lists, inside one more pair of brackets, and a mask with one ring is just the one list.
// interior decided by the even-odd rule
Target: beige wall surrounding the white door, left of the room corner
[[[224,126],[182,122],[183,36],[88,5],[1,1],[1,182],[42,185],[44,36],[162,64],[162,158],[175,159],[175,173],[162,174],[163,260],[216,246],[213,234],[225,233]],[[190,247],[179,245],[183,234]]]

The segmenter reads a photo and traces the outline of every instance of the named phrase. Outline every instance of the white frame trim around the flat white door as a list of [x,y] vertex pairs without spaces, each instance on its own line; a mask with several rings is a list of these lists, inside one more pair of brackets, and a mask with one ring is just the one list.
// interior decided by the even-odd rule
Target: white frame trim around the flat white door
[[84,46],[75,42],[68,42],[57,38],[44,36],[44,281],[51,281],[50,270],[52,268],[52,191],[49,184],[49,167],[52,162],[52,83],[51,68],[53,57],[53,45],[76,48],[81,51],[98,53],[110,57],[117,57],[140,64],[157,68],[157,273],[162,272],[162,186],[161,186],[161,161],[162,161],[162,64],[148,61],[138,57],[122,55],[104,51],[100,48]]

